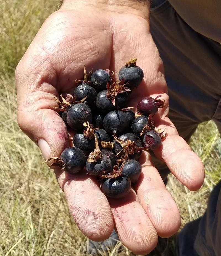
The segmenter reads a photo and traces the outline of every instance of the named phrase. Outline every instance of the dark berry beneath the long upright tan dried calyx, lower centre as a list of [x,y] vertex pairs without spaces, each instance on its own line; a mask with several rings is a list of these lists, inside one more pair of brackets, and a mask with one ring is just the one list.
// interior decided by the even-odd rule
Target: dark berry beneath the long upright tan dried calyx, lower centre
[[88,174],[95,176],[101,176],[112,171],[111,160],[106,155],[94,162],[88,162],[87,160],[85,167]]

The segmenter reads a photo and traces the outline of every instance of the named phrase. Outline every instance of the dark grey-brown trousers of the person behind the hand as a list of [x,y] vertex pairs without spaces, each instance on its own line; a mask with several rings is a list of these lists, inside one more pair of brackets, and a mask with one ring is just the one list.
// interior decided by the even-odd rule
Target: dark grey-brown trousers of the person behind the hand
[[[187,142],[203,121],[213,120],[221,132],[220,43],[194,31],[168,1],[152,7],[151,33],[164,63],[169,118]],[[154,162],[165,178],[168,168],[156,158]],[[180,232],[177,256],[221,255],[220,184],[211,193],[204,216]]]

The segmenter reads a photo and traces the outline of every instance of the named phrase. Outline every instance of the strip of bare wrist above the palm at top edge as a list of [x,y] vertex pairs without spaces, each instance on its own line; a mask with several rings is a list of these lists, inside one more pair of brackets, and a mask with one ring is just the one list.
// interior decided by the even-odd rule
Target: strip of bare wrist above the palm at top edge
[[61,9],[134,14],[149,20],[149,0],[64,0]]

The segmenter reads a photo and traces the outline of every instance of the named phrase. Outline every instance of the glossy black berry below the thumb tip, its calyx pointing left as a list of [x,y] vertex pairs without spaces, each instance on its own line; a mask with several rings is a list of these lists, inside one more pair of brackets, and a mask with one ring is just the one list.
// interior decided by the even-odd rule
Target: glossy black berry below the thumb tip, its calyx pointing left
[[64,170],[71,174],[75,174],[82,170],[86,164],[86,156],[79,148],[66,148],[60,155],[63,161]]

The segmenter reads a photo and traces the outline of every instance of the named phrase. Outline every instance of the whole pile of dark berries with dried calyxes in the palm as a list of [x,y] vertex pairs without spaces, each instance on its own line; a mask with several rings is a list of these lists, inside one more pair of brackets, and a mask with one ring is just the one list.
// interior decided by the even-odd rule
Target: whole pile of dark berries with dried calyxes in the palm
[[141,165],[137,161],[142,151],[156,149],[165,135],[151,120],[164,100],[143,98],[135,113],[126,107],[131,91],[143,80],[143,70],[136,66],[136,58],[119,71],[119,82],[109,70],[98,69],[86,73],[72,95],[62,102],[58,99],[60,116],[75,131],[73,145],[60,157],[50,158],[51,166],[59,166],[75,174],[84,167],[101,181],[102,192],[112,198],[122,198],[136,184]]

